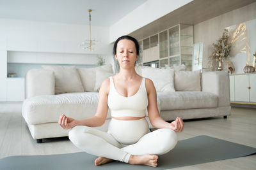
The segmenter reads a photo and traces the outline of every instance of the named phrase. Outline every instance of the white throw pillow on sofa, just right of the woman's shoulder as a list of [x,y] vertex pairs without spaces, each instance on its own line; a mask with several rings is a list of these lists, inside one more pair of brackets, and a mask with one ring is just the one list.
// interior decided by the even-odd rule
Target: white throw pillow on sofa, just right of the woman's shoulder
[[157,92],[175,92],[173,85],[173,69],[142,67],[141,76],[152,80]]

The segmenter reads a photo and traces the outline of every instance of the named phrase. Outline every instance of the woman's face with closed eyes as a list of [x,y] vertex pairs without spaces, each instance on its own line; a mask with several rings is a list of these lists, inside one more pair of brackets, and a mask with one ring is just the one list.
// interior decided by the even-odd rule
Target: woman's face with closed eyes
[[120,67],[124,69],[134,67],[138,59],[134,42],[129,39],[118,41],[115,58],[118,60]]

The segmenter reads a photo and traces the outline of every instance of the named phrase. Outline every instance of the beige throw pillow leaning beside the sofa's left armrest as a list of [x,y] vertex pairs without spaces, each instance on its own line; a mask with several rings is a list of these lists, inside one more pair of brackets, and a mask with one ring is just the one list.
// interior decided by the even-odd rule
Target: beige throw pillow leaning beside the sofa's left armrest
[[54,71],[55,94],[84,92],[81,78],[75,66],[42,66]]

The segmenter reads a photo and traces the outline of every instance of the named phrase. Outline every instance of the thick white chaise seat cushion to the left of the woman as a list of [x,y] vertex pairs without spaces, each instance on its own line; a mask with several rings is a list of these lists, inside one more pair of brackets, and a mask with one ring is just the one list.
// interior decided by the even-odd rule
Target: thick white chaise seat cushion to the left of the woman
[[98,92],[68,93],[28,98],[22,105],[22,116],[28,124],[58,122],[60,115],[83,119],[93,117]]

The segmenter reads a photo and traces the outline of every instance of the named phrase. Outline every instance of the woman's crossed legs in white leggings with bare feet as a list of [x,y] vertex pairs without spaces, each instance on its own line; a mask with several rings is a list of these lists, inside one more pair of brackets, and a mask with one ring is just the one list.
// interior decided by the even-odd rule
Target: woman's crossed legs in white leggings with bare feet
[[73,127],[68,137],[77,148],[99,156],[95,160],[95,165],[118,160],[129,164],[157,166],[157,155],[169,152],[177,143],[177,135],[171,129],[157,129],[154,132],[149,132],[142,136],[137,143],[124,148],[108,132],[92,127]]

